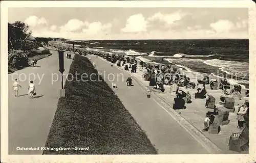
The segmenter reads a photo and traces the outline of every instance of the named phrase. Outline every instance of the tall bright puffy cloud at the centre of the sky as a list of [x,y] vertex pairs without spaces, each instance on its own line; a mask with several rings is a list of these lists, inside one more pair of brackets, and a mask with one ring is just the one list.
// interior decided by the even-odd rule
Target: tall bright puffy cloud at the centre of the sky
[[121,32],[145,32],[147,28],[147,23],[148,22],[142,14],[132,15],[127,19],[125,28],[121,29]]

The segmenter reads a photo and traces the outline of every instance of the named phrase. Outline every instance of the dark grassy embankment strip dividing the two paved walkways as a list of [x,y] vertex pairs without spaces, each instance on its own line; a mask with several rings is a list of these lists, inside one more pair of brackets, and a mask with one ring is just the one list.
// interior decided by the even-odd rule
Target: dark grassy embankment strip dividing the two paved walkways
[[[75,55],[70,72],[97,74],[91,62]],[[71,79],[72,76],[68,76]],[[78,79],[81,76],[78,75]],[[112,89],[96,82],[67,80],[66,97],[58,101],[46,147],[89,147],[89,150],[44,151],[44,154],[157,154],[146,134]]]

